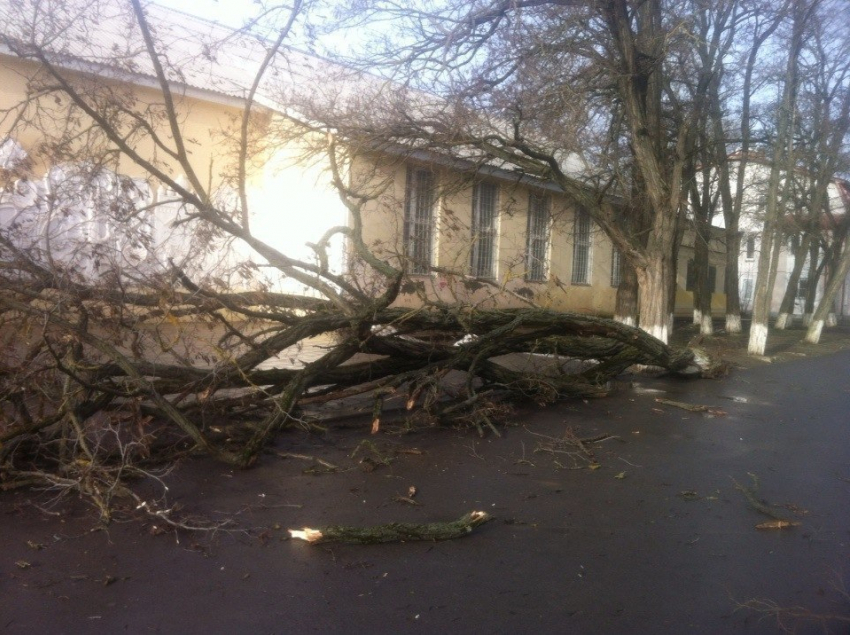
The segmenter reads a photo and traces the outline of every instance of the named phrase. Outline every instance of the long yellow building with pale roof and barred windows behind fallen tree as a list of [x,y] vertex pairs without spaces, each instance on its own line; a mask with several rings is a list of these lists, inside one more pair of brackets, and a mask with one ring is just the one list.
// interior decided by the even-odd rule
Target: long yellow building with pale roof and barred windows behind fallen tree
[[[8,2],[0,7],[10,11]],[[58,74],[93,107],[102,105],[107,97],[112,100],[111,107],[98,112],[116,118],[117,128],[126,133],[122,141],[134,158],[126,151],[99,155],[109,160],[98,164],[98,170],[108,168],[113,174],[101,189],[113,191],[116,183],[129,178],[137,190],[137,207],[148,209],[147,220],[142,226],[98,219],[102,206],[97,197],[87,194],[88,198],[78,196],[74,205],[67,206],[71,211],[62,219],[64,224],[57,221],[46,226],[38,220],[33,227],[48,234],[64,232],[89,245],[108,243],[117,259],[133,239],[128,232],[148,232],[144,254],[133,260],[136,266],[144,261],[150,271],[164,270],[173,259],[193,275],[224,279],[233,288],[249,284],[249,278],[236,275],[246,270],[240,265],[249,263],[252,275],[259,272],[264,284],[304,291],[297,280],[272,266],[275,262],[270,254],[317,263],[308,243],[317,243],[331,227],[351,223],[321,152],[325,137],[293,123],[299,82],[316,82],[317,77],[326,76],[329,62],[287,50],[263,76],[254,94],[246,137],[250,157],[243,192],[239,188],[243,180],[238,167],[239,139],[245,98],[265,56],[263,42],[244,35],[231,38],[230,32],[218,25],[152,5],[148,18],[156,24],[161,50],[167,51],[172,63],[163,71],[174,101],[169,112],[157,69],[139,52],[144,51],[140,41],[122,31],[123,22],[117,17],[113,22],[102,20],[96,37],[89,34],[85,41],[69,37],[47,58],[54,69],[51,74],[22,44],[24,36],[37,39],[50,34],[22,35],[10,26],[12,15],[2,16],[9,20],[0,46],[0,109],[11,115],[0,122],[0,141],[6,140],[0,148],[0,161],[12,170],[15,161],[25,165],[26,161],[19,159],[29,157],[27,176],[32,182],[40,179],[40,185],[33,187],[35,194],[29,198],[7,191],[0,200],[0,221],[8,227],[10,219],[21,216],[22,206],[29,206],[33,217],[43,219],[49,210],[45,211],[47,207],[39,200],[52,197],[55,203],[61,177],[73,173],[75,166],[88,169],[95,158],[87,154],[92,147],[112,151],[119,143],[98,139],[101,145],[93,146],[91,137],[84,134],[90,117],[70,116],[70,104],[61,91],[45,90],[27,106],[29,110],[23,106],[33,90],[55,84]],[[219,46],[205,54],[211,42]],[[110,61],[123,60],[125,50],[135,51],[132,63]],[[39,110],[38,116],[34,109]],[[19,112],[28,114],[17,118]],[[79,113],[79,107],[74,112]],[[169,114],[174,115],[180,135],[175,134]],[[303,113],[301,118],[309,119]],[[31,125],[23,125],[27,122]],[[50,145],[60,142],[68,145]],[[180,143],[185,146],[182,154]],[[588,214],[554,185],[495,168],[464,171],[458,164],[424,153],[348,152],[340,156],[340,174],[346,185],[372,195],[362,210],[365,243],[409,274],[399,304],[415,306],[424,298],[482,306],[519,306],[533,301],[559,310],[613,313],[619,254]],[[58,172],[57,167],[61,168]],[[223,210],[240,228],[249,228],[250,240],[234,242],[189,231],[191,224],[183,221],[196,214],[198,207],[186,205],[185,196],[179,191],[175,194],[175,188],[197,195],[199,201]],[[183,201],[178,200],[181,198]],[[69,217],[76,218],[73,231]],[[692,238],[686,237],[680,251],[679,313],[691,310],[691,294],[686,290],[691,244]],[[67,255],[95,258],[92,251],[79,248]],[[331,271],[348,273],[368,287],[368,277],[361,276],[351,262],[341,237],[332,241],[329,256]],[[720,312],[724,301],[722,246],[716,247],[712,259],[717,269],[714,306]],[[87,269],[89,274],[96,270]],[[225,273],[229,277],[223,278]]]

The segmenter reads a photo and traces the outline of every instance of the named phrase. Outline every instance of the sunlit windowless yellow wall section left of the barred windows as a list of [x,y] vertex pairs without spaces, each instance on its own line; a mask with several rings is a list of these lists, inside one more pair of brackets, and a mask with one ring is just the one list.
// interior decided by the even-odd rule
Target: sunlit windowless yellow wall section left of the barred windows
[[[68,77],[82,90],[109,91],[132,100],[137,112],[146,109],[161,109],[162,94],[152,87],[128,86],[103,78],[91,78],[79,73],[69,72]],[[39,67],[14,57],[0,55],[0,108],[14,109],[22,105],[27,95],[27,82],[38,81]],[[180,127],[186,140],[189,162],[198,175],[211,198],[220,206],[234,214],[238,213],[239,198],[236,189],[236,157],[238,156],[238,130],[242,110],[239,102],[224,95],[192,91],[174,92]],[[39,152],[51,137],[63,134],[71,121],[68,117],[68,99],[60,96],[57,102],[48,96],[39,102],[43,109],[39,127],[24,127],[20,124],[12,128],[13,118],[0,121],[0,142],[13,139],[27,153],[31,166],[29,177],[43,195],[55,194],[55,179],[51,187],[49,175],[55,175],[59,167],[65,172],[85,164],[87,151],[82,144],[71,145],[63,150],[63,156],[51,161]],[[30,112],[33,112],[32,109]],[[255,109],[252,121],[250,160],[247,174],[248,200],[251,210],[251,226],[255,236],[275,249],[294,258],[315,261],[314,252],[307,243],[318,242],[322,234],[330,227],[345,225],[347,211],[332,187],[330,176],[325,169],[326,163],[308,159],[314,150],[311,140],[306,139],[303,131],[296,131],[283,120],[273,117],[268,111]],[[87,121],[82,119],[77,127],[84,127]],[[154,125],[157,133],[171,143],[167,122],[160,120]],[[157,148],[149,135],[131,137],[131,145],[145,160],[155,162],[166,174],[176,179],[182,186],[191,189],[185,171],[178,162]],[[92,157],[96,159],[99,157]],[[239,241],[210,243],[208,238],[196,236],[198,242],[192,243],[191,224],[172,229],[172,223],[185,215],[186,210],[167,201],[176,198],[161,183],[153,180],[141,167],[126,156],[117,155],[107,164],[107,172],[135,179],[140,190],[140,206],[153,205],[148,214],[149,229],[155,235],[156,262],[149,256],[150,267],[164,268],[169,257],[173,257],[187,270],[198,275],[212,275],[216,272],[234,270],[240,262],[254,262],[262,265],[264,260]],[[9,195],[0,201],[2,216],[6,220],[17,212],[15,205],[20,197],[12,200]],[[33,210],[36,215],[44,216],[41,211]],[[75,233],[66,235],[79,240],[91,240],[90,227],[95,223],[92,217],[97,205],[89,201],[79,209]],[[2,220],[2,219],[0,219]],[[70,221],[69,221],[70,222]],[[120,228],[113,228],[117,232]],[[114,233],[113,232],[113,233]],[[335,239],[332,245],[331,266],[335,270],[343,267],[342,238]],[[189,246],[191,245],[191,246]],[[120,246],[119,246],[120,247]],[[70,249],[70,248],[69,248]],[[85,251],[69,251],[68,255],[85,256]],[[126,263],[125,263],[126,264]],[[261,267],[260,278],[282,291],[303,292],[305,289],[294,284],[291,279],[278,275],[268,267]],[[233,278],[232,284],[241,285],[244,278]]]

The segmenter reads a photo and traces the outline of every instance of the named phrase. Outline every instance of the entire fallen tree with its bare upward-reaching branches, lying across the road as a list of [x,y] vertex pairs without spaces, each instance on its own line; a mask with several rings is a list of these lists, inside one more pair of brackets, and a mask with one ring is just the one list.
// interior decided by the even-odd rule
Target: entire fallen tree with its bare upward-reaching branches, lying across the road
[[[492,308],[505,291],[463,272],[440,275],[489,288],[493,301],[398,306],[419,263],[379,257],[365,244],[362,211],[377,195],[353,189],[344,169],[359,149],[340,147],[315,121],[287,120],[276,132],[269,112],[252,110],[300,3],[284,12],[275,43],[261,48],[256,82],[238,92],[235,125],[205,131],[228,141],[219,154],[236,157],[222,164],[220,182],[212,156],[209,166],[199,164],[197,131],[186,128],[191,108],[175,92],[197,68],[192,60],[168,66],[161,51],[169,49],[169,27],[148,24],[147,12],[160,9],[133,0],[65,12],[71,4],[61,4],[55,20],[42,19],[39,2],[0,14],[3,44],[24,62],[21,72],[32,73],[21,103],[2,112],[3,134],[36,140],[30,156],[7,152],[0,170],[3,490],[80,492],[104,518],[123,496],[161,515],[128,495],[128,478],[150,478],[152,465],[197,452],[248,467],[280,430],[314,428],[340,408],[364,413],[372,432],[393,410],[483,433],[496,431],[521,400],[602,396],[633,364],[686,376],[708,367],[693,351],[611,320],[528,300]],[[125,56],[87,35],[99,19],[115,19],[113,11],[120,28],[132,25]],[[188,46],[184,33],[176,35]],[[241,44],[244,53],[256,42]],[[199,50],[208,72],[212,49]],[[104,64],[128,82],[145,75],[143,87],[153,82],[159,92],[145,93],[149,103],[133,84],[92,82],[80,71]],[[323,230],[310,258],[275,248],[249,222],[252,161],[272,143],[297,146],[305,161],[322,153],[349,214],[348,225]],[[38,166],[51,167],[43,175]],[[119,172],[127,166],[133,178]],[[154,236],[157,219],[146,220],[157,207],[170,210],[157,231],[167,225],[177,234],[171,252]],[[341,238],[352,261],[345,273],[329,264],[330,245]],[[307,291],[271,291],[269,270]]]

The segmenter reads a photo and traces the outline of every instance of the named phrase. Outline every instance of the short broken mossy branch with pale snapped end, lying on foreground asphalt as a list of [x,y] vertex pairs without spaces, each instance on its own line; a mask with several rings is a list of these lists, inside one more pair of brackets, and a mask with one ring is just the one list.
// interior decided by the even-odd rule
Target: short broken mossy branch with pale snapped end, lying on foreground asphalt
[[483,525],[492,517],[487,512],[470,512],[459,519],[442,523],[390,523],[375,527],[347,527],[342,525],[321,529],[290,529],[292,538],[312,544],[322,542],[348,542],[362,545],[383,542],[413,542],[417,540],[452,540],[462,538]]

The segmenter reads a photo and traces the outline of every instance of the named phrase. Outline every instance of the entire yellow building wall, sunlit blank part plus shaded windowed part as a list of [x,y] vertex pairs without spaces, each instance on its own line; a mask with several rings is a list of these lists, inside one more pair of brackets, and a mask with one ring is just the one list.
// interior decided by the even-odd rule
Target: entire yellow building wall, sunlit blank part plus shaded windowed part
[[[27,90],[27,78],[38,73],[37,66],[15,58],[0,57],[0,107],[10,108],[20,103]],[[91,82],[92,90],[124,91],[142,107],[157,107],[162,95],[151,87],[109,82],[102,78],[73,75],[82,84]],[[238,103],[225,96],[193,91],[177,91],[177,107],[184,136],[189,143],[190,161],[195,172],[214,191],[216,200],[238,201],[232,186],[236,146],[234,139],[240,122]],[[49,99],[52,99],[50,97]],[[57,132],[66,119],[66,104],[49,104]],[[8,126],[9,120],[3,122]],[[313,260],[314,254],[306,246],[317,242],[331,227],[350,223],[348,211],[331,185],[326,158],[319,151],[323,138],[292,129],[282,117],[260,111],[253,122],[253,146],[248,174],[248,193],[251,204],[251,224],[254,234],[272,247],[296,258]],[[168,138],[164,121],[158,132]],[[36,129],[15,130],[0,127],[0,139],[13,137],[25,150],[33,151],[44,141],[44,131]],[[163,169],[182,184],[186,184],[182,167],[157,149],[149,138],[134,141],[134,147],[150,160],[156,160]],[[497,221],[495,231],[494,269],[489,283],[470,277],[470,253],[473,240],[473,191],[475,181],[448,167],[404,161],[395,156],[356,154],[341,166],[344,178],[360,192],[373,197],[363,211],[364,239],[379,257],[399,265],[405,253],[405,205],[407,177],[411,169],[433,172],[436,191],[434,196],[434,225],[431,260],[438,271],[428,275],[412,276],[398,301],[401,305],[415,306],[422,294],[430,300],[463,302],[480,306],[522,306],[524,299],[557,310],[570,310],[602,315],[614,311],[616,288],[612,282],[612,253],[610,240],[591,223],[589,233],[589,276],[586,282],[573,282],[575,251],[576,206],[563,195],[539,185],[517,178],[485,179],[498,188]],[[75,151],[68,153],[76,156]],[[118,160],[112,168],[116,173],[147,178],[138,166],[126,158]],[[50,165],[41,162],[33,173],[49,171]],[[480,177],[479,177],[480,178]],[[195,270],[212,273],[212,269],[233,268],[240,261],[263,264],[244,245],[222,243],[187,248],[190,240],[183,229],[167,231],[182,212],[173,204],[163,203],[170,197],[161,184],[146,181],[148,202],[157,203],[154,225],[156,249],[154,255],[161,266],[167,257],[176,255],[178,262],[194,263]],[[529,279],[530,264],[528,230],[529,205],[532,196],[545,196],[548,201],[548,244],[545,256],[546,275],[539,280]],[[178,206],[179,207],[179,206]],[[91,221],[92,219],[88,219]],[[184,226],[185,227],[185,226]],[[183,232],[183,233],[181,233]],[[163,253],[164,252],[164,253]],[[204,256],[201,257],[201,253]],[[677,312],[691,310],[690,293],[684,291],[684,270],[688,247],[683,247],[679,280],[682,289],[677,294]],[[332,268],[342,270],[346,263],[342,240],[336,239],[331,249]],[[361,282],[368,286],[368,273],[361,274]],[[269,268],[261,268],[262,278],[283,291],[304,291],[300,285],[276,275]],[[715,306],[722,307],[722,276],[718,276],[719,293]],[[231,283],[242,284],[239,280]]]

